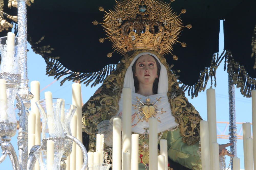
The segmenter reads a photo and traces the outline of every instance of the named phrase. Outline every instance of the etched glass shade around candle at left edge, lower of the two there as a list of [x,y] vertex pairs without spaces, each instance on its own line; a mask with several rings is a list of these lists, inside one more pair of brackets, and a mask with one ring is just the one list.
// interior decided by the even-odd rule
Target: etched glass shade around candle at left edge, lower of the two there
[[0,122],[17,123],[14,101],[18,87],[16,83],[0,83]]

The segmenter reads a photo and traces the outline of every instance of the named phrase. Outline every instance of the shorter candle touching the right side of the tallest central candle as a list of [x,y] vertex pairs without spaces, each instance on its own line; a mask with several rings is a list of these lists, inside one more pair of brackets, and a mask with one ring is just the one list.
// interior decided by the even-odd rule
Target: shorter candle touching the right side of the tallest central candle
[[139,169],[139,134],[132,134],[132,160],[131,160],[131,169],[138,170]]

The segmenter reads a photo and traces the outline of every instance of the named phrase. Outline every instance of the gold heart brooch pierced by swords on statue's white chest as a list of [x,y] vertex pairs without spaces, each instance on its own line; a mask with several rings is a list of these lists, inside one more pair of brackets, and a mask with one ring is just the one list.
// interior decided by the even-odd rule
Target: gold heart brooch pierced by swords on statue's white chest
[[[164,111],[163,109],[161,110],[157,110],[157,106],[156,106],[156,103],[157,102],[161,102],[161,98],[160,97],[159,99],[156,98],[156,101],[155,102],[150,102],[150,98],[147,98],[146,99],[146,103],[144,103],[143,101],[141,101],[141,98],[138,98],[137,103],[136,104],[132,104],[132,106],[134,106],[135,108],[134,109],[137,109],[138,108],[138,112],[136,112],[136,115],[138,117],[138,122],[143,122],[143,121],[146,121],[148,122],[148,119],[151,118],[151,117],[154,117],[156,118],[156,115],[158,112],[161,112],[161,114],[165,113],[166,111]],[[157,118],[157,121],[161,123],[161,121],[159,120],[160,117]]]

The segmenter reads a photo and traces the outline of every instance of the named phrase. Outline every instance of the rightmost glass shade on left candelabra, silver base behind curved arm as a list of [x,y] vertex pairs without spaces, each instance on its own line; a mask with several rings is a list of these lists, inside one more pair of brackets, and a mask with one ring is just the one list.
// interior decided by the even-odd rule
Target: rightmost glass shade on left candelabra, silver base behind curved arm
[[[72,104],[64,104],[64,115],[61,113],[61,120],[63,120],[62,116],[65,116],[64,122],[61,121],[62,128],[64,130],[64,134],[72,135],[70,129],[71,119],[76,111],[77,107]],[[65,152],[63,156],[69,156],[72,151],[73,141],[71,139],[65,139]]]

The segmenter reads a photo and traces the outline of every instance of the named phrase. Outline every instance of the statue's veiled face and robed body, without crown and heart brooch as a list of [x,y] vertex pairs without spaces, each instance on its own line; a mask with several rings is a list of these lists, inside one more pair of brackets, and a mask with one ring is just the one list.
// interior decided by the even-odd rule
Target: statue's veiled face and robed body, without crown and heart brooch
[[[112,120],[120,116],[122,111],[123,87],[132,89],[133,105],[136,105],[137,98],[145,103],[148,98],[152,101],[161,98],[157,108],[165,113],[155,115],[159,117],[158,139],[168,140],[170,161],[189,169],[201,169],[198,154],[201,117],[188,102],[164,56],[153,50],[135,50],[125,55],[116,70],[83,106],[83,129],[90,135],[89,151],[94,150],[97,133],[104,134],[106,147],[112,146]],[[147,87],[150,90],[146,90]],[[132,132],[141,134],[139,160],[141,169],[145,169],[144,166],[148,165],[148,148],[145,146],[148,146],[150,129],[146,120],[139,121],[140,118],[134,114],[137,110],[131,107],[134,122]]]

